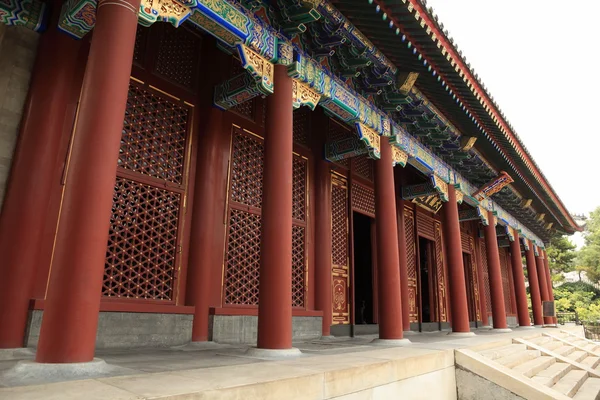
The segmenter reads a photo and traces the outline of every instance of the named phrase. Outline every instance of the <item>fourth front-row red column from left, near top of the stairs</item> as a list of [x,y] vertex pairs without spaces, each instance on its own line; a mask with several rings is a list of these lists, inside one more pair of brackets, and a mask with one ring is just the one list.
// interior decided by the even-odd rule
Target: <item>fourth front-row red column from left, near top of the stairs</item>
[[452,332],[470,333],[465,269],[462,258],[460,223],[458,220],[458,206],[456,205],[456,189],[454,185],[448,185],[448,202],[444,203],[442,217],[444,250],[448,264],[448,285],[450,286]]

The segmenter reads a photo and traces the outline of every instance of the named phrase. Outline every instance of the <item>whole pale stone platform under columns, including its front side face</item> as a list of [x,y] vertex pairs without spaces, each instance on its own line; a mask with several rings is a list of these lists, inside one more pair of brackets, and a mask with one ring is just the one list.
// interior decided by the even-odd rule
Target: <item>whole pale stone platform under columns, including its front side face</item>
[[410,335],[412,344],[403,347],[372,344],[374,336],[311,340],[294,344],[300,357],[279,360],[248,357],[246,346],[215,343],[100,350],[96,357],[111,368],[71,380],[57,375],[15,379],[16,358],[31,359],[17,352],[21,356],[0,361],[0,399],[374,400],[401,394],[406,399],[453,400],[455,349],[551,330],[481,330],[471,337],[423,333]]

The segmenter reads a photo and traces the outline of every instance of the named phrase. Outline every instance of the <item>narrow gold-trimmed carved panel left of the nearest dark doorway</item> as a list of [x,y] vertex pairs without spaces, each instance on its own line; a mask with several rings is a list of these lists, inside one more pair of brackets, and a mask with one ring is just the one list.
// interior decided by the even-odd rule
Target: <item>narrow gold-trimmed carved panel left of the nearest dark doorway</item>
[[349,324],[348,184],[337,174],[331,175],[331,241],[333,324]]

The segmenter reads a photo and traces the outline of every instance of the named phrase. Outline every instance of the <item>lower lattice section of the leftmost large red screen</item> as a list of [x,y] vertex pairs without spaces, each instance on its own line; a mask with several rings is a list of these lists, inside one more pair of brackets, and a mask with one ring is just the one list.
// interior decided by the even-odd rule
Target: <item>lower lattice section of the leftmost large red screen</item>
[[172,300],[181,194],[117,177],[102,294]]

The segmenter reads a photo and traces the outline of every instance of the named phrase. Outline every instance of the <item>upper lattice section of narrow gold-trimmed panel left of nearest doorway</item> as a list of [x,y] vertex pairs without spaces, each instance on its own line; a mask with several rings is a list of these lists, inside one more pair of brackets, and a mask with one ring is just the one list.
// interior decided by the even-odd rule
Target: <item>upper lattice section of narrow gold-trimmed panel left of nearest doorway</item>
[[342,185],[331,187],[331,239],[334,265],[348,263],[348,189]]

